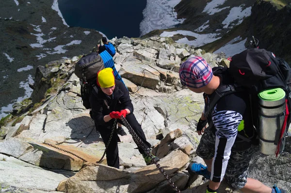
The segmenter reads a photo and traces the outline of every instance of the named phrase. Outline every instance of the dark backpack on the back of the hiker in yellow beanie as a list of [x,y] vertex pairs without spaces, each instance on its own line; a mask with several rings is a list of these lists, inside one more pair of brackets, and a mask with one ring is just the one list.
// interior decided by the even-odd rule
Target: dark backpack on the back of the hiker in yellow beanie
[[75,66],[75,74],[80,79],[82,103],[91,109],[89,102],[92,90],[97,90],[97,72],[104,69],[104,63],[96,52],[82,56]]

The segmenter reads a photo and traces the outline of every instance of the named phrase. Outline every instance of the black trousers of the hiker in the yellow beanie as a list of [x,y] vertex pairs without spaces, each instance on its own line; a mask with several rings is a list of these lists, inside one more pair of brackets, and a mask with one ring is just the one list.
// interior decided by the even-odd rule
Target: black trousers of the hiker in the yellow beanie
[[[146,141],[145,133],[144,133],[141,125],[137,122],[134,114],[130,113],[130,114],[126,115],[125,119],[129,122],[129,125],[131,126],[131,128],[134,130],[134,132],[137,134],[137,136],[144,143],[144,146],[146,147],[146,149],[150,148],[151,145]],[[96,128],[99,131],[99,133],[103,139],[103,142],[106,146],[108,144],[110,134],[111,134],[111,131],[113,129],[113,122],[114,122],[113,119],[111,121],[109,121],[106,125],[98,125],[95,122]],[[118,119],[117,122],[120,122],[123,125],[123,123],[120,119]],[[117,145],[118,141],[119,141],[119,138],[117,135],[117,131],[116,131],[116,129],[114,129],[111,142],[106,150],[106,159],[107,159],[107,165],[115,167],[115,168],[119,168],[119,156],[118,156],[118,145]],[[141,154],[144,154],[145,150],[140,145],[137,144],[137,146],[138,146],[139,152]]]

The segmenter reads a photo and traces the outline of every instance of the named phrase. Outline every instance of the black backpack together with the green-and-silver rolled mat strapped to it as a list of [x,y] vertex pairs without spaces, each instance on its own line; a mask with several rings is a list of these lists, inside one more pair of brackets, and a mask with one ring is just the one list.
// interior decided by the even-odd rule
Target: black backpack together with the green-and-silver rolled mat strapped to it
[[[206,109],[209,116],[218,100],[235,92],[250,96],[253,125],[263,154],[277,156],[284,150],[291,116],[291,68],[270,51],[250,48],[234,55],[229,68],[214,67],[213,74],[228,73],[233,81],[221,85]],[[239,136],[242,140],[249,139]]]

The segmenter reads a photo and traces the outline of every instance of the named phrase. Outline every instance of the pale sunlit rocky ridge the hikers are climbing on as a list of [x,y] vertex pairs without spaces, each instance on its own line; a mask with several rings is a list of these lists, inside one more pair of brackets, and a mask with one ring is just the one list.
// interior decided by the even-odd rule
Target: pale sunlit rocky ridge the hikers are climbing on
[[[112,42],[115,66],[131,92],[134,114],[153,145],[152,153],[182,192],[205,192],[205,179],[186,171],[189,161],[203,163],[195,155],[200,136],[194,132],[203,97],[181,87],[177,71],[191,54],[203,56],[211,66],[226,65],[227,60],[170,38]],[[106,166],[106,160],[96,163],[105,146],[82,106],[75,64],[76,58],[39,66],[35,77],[41,81],[35,82],[32,98],[15,105],[15,115],[2,120],[0,192],[174,192],[155,165],[146,166],[130,135],[120,136],[120,169]],[[40,92],[42,87],[49,89]],[[64,141],[77,143],[57,145]],[[279,158],[256,155],[250,176],[291,190],[290,153],[288,144]],[[237,191],[223,182],[220,192]]]

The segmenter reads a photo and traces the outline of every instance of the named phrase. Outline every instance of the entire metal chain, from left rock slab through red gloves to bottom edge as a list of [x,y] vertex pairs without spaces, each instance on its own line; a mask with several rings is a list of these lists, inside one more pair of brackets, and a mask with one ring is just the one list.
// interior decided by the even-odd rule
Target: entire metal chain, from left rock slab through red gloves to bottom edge
[[[166,172],[162,169],[161,165],[156,161],[156,159],[154,158],[154,156],[151,154],[151,149],[150,149],[150,148],[146,148],[144,142],[143,142],[143,141],[138,137],[138,135],[134,132],[134,130],[133,130],[133,129],[131,128],[131,126],[129,125],[129,122],[128,122],[128,121],[127,121],[123,116],[121,116],[120,118],[121,118],[121,121],[123,122],[124,126],[125,126],[127,129],[129,129],[129,133],[131,134],[132,139],[133,139],[133,141],[135,142],[135,144],[138,145],[138,146],[140,146],[140,147],[142,147],[142,148],[144,149],[144,151],[146,152],[146,155],[149,156],[149,157],[151,158],[151,160],[154,162],[154,164],[156,164],[156,167],[157,167],[157,168],[159,169],[159,171],[162,173],[163,177],[165,177],[166,180],[169,182],[169,185],[173,188],[173,190],[174,190],[176,193],[180,193],[180,190],[179,190],[178,187],[174,184],[174,182],[172,181],[171,177],[169,177],[169,176],[166,174]],[[108,148],[108,146],[109,146],[109,144],[110,144],[110,142],[111,142],[111,140],[112,140],[113,132],[114,132],[114,129],[116,128],[116,124],[117,124],[117,119],[114,120],[113,128],[112,128],[112,131],[111,131],[111,133],[110,133],[110,138],[109,138],[109,141],[108,141],[108,143],[107,143],[107,145],[106,145],[106,147],[105,147],[105,151],[104,151],[104,153],[103,153],[103,156],[101,157],[101,159],[100,159],[99,161],[97,161],[97,163],[100,163],[100,162],[103,160],[103,158],[104,158],[104,156],[105,156],[105,154],[106,154],[106,150],[107,150],[107,148]],[[51,144],[49,144],[49,143],[44,143],[44,144],[46,144],[46,145],[50,145],[50,146],[52,146],[52,147],[54,147],[54,148],[56,148],[56,149],[59,149],[59,150],[61,150],[61,151],[66,152],[66,153],[70,153],[70,154],[76,156],[77,158],[81,159],[82,161],[87,162],[86,160],[84,160],[84,159],[81,158],[80,156],[77,156],[76,154],[74,154],[74,153],[72,153],[72,152],[69,152],[69,151],[67,151],[67,150],[65,150],[65,149],[59,148],[59,147],[57,147],[57,146],[55,146],[55,145],[51,145]],[[59,144],[60,144],[60,143],[59,143]],[[58,144],[57,144],[57,145],[58,145]]]

